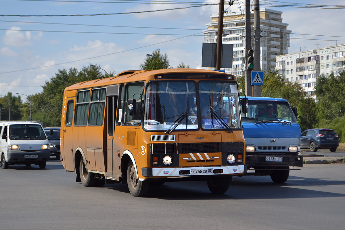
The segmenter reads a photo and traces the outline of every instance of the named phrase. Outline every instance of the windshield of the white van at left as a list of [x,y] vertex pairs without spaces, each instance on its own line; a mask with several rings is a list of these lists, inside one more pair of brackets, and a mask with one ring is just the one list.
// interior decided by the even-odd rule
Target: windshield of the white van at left
[[11,140],[44,140],[45,132],[39,124],[12,124],[10,125]]

